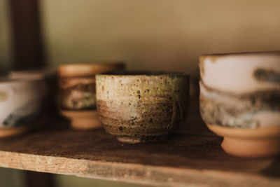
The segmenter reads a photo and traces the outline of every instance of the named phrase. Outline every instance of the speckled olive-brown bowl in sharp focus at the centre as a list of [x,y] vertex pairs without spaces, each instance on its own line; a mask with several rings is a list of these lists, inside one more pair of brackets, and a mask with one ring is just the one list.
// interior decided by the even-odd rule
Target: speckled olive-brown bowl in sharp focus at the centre
[[96,77],[100,120],[118,141],[165,139],[186,120],[188,74],[115,72]]

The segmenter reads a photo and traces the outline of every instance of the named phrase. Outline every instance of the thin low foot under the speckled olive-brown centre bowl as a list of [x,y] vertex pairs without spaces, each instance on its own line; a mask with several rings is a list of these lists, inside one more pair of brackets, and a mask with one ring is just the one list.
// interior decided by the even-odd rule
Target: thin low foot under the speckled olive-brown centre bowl
[[151,137],[117,137],[118,141],[126,144],[140,144],[167,139],[167,135],[151,136]]

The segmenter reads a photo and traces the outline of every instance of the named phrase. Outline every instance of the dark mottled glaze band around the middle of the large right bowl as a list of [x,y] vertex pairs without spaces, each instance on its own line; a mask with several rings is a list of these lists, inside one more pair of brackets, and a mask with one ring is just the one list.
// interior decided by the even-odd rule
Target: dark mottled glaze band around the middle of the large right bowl
[[280,125],[280,90],[233,94],[200,82],[200,113],[208,124],[256,128]]

